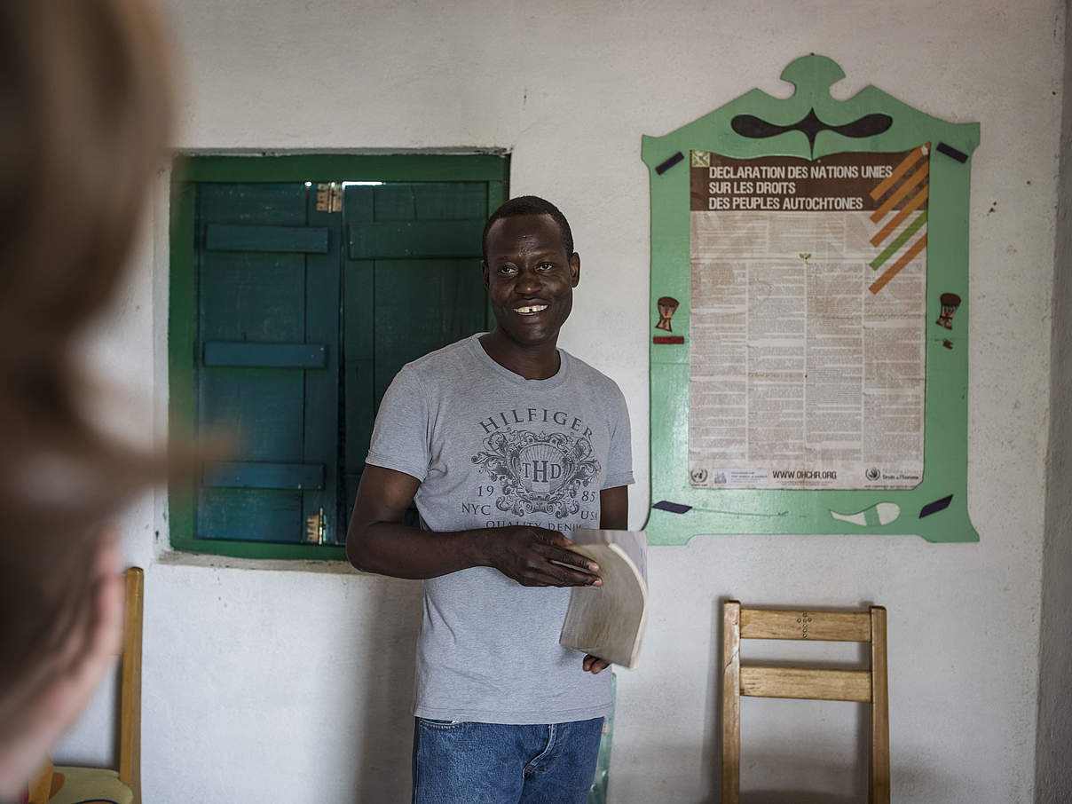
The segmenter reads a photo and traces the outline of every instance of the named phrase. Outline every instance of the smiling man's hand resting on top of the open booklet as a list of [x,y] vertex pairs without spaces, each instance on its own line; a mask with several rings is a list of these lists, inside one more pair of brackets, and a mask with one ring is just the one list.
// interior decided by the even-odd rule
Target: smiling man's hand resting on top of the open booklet
[[599,571],[599,565],[567,550],[574,542],[557,531],[516,525],[471,533],[485,559],[481,563],[522,586],[598,586],[602,583],[599,576],[593,575]]

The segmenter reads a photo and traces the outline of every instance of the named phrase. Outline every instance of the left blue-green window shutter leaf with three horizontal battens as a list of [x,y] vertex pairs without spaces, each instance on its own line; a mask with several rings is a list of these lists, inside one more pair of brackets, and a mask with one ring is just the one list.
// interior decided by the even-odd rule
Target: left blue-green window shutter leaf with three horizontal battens
[[196,428],[237,446],[199,478],[194,536],[298,544],[323,509],[333,542],[339,224],[303,182],[203,182],[195,220]]

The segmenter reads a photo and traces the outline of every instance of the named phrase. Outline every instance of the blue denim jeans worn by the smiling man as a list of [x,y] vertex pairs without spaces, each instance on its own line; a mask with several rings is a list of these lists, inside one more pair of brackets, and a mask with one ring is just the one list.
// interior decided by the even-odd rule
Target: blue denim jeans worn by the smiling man
[[504,726],[416,718],[414,804],[584,804],[604,718]]

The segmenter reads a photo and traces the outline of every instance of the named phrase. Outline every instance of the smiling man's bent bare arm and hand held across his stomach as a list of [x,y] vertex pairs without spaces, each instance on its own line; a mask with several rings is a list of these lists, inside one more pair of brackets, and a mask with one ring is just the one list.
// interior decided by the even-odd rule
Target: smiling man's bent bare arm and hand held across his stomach
[[[396,578],[435,578],[468,567],[494,567],[525,586],[586,586],[601,581],[595,562],[567,550],[572,542],[542,527],[490,527],[433,533],[403,524],[420,481],[366,464],[346,532],[346,557],[358,569]],[[624,491],[624,489],[623,489]]]

